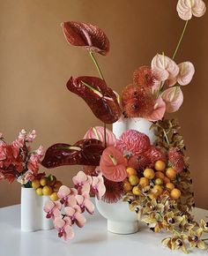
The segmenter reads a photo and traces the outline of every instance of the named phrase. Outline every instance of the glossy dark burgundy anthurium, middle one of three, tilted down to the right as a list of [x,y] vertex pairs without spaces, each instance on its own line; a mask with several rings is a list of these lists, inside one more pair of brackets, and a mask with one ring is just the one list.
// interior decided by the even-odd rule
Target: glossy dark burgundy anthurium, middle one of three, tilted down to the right
[[66,86],[72,93],[83,98],[95,117],[98,117],[103,123],[113,124],[121,117],[122,110],[115,93],[103,79],[71,77]]

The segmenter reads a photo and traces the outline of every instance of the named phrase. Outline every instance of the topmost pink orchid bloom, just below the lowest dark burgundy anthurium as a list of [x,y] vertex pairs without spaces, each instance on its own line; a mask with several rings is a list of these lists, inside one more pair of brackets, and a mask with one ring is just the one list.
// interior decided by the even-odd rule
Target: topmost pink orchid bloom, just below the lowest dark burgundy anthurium
[[92,177],[85,175],[84,171],[79,171],[75,177],[72,177],[72,181],[79,193],[90,192]]

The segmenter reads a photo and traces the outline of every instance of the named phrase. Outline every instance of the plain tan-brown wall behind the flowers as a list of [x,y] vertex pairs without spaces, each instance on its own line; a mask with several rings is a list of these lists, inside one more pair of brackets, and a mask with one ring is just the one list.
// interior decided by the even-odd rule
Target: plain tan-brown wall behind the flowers
[[[97,75],[90,57],[64,41],[60,23],[82,20],[100,26],[111,42],[99,56],[108,84],[121,91],[139,65],[165,51],[171,56],[182,31],[176,0],[0,0],[0,131],[11,141],[22,128],[35,129],[35,147],[75,142],[100,124],[85,102],[65,83],[73,75]],[[206,1],[207,3],[207,1]],[[196,65],[184,87],[185,102],[176,117],[188,147],[196,201],[208,209],[207,73],[208,14],[189,23],[177,62]],[[206,27],[205,27],[206,26]],[[78,167],[51,172],[71,184]],[[0,183],[0,207],[19,203],[20,185]]]

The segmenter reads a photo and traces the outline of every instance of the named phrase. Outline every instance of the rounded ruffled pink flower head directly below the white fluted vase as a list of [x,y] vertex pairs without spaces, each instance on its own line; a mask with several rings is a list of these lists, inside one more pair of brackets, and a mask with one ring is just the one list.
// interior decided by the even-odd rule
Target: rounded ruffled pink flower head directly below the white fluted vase
[[136,130],[123,132],[116,143],[116,147],[122,152],[127,150],[132,154],[142,154],[150,145],[149,137],[145,133],[137,132]]

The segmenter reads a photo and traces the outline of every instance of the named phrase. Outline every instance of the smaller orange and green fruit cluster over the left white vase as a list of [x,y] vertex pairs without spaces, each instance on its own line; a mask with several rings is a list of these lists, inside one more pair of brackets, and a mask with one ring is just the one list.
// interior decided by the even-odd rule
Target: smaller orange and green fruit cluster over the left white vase
[[49,196],[50,200],[58,200],[57,192],[62,185],[62,182],[57,180],[55,176],[41,177],[41,179],[34,179],[32,187],[39,196]]

